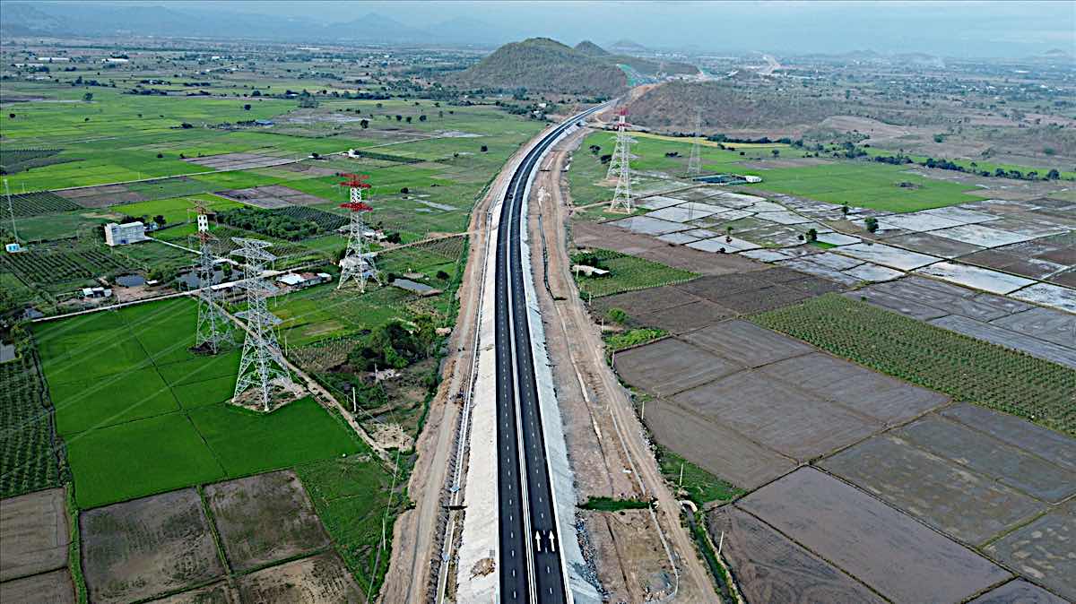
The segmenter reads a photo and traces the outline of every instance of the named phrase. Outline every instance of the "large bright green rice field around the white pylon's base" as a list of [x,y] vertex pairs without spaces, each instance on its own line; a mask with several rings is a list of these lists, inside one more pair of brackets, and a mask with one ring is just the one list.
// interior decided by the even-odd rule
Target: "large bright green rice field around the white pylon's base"
[[40,323],[34,337],[80,507],[364,450],[310,398],[270,414],[226,403],[237,350],[187,350],[195,303]]

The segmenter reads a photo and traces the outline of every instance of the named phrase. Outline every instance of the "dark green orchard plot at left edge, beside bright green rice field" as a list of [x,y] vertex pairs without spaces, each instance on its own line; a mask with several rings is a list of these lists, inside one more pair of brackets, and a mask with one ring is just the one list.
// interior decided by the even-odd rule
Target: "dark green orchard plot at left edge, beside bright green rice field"
[[0,363],[0,498],[59,485],[51,407],[32,349]]

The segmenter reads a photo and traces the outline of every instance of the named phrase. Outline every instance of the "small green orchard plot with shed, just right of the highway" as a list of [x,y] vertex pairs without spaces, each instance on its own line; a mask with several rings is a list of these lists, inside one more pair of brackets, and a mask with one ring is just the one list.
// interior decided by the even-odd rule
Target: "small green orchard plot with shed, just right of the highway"
[[698,276],[691,271],[674,269],[660,262],[627,256],[610,249],[592,249],[584,254],[576,254],[571,257],[571,261],[609,271],[609,274],[603,276],[576,275],[579,292],[593,298],[682,283]]

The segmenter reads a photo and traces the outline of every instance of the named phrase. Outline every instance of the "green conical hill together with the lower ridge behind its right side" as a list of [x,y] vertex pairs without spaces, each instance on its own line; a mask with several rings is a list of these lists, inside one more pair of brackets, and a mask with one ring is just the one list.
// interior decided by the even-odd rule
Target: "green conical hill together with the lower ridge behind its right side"
[[572,48],[549,38],[530,38],[505,44],[469,69],[450,75],[447,84],[613,97],[631,84],[627,71],[643,77],[660,77],[697,73],[698,69],[686,63],[613,55],[591,41]]

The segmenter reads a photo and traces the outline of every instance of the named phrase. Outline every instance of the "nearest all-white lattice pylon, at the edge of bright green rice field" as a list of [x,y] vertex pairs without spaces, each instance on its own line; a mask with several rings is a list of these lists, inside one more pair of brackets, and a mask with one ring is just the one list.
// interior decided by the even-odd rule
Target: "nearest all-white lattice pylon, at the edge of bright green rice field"
[[246,310],[238,313],[238,316],[246,319],[247,329],[232,399],[256,388],[263,409],[268,412],[272,383],[287,386],[292,382],[272,329],[281,320],[269,312],[266,303],[266,299],[277,291],[277,287],[261,276],[266,264],[277,257],[266,250],[272,245],[269,242],[245,238],[231,238],[231,241],[240,245],[231,255],[244,260],[243,279],[239,282],[239,286],[246,290]]

